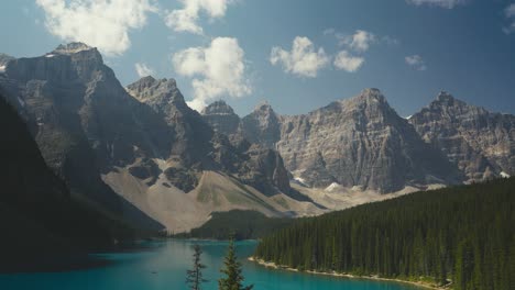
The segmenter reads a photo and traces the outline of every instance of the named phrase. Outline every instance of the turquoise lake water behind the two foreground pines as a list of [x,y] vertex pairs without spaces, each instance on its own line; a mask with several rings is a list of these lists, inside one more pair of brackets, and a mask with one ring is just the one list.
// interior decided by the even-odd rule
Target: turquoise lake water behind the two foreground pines
[[[227,249],[224,242],[195,242],[202,246],[204,271],[209,279],[202,289],[216,290]],[[185,274],[191,265],[193,242],[152,242],[147,248],[100,255],[112,263],[99,268],[65,271],[0,275],[1,290],[175,290],[187,289]],[[266,269],[246,260],[255,242],[237,243],[246,283],[255,290],[415,290],[413,286],[361,279],[333,278]],[[246,285],[245,283],[245,285]]]

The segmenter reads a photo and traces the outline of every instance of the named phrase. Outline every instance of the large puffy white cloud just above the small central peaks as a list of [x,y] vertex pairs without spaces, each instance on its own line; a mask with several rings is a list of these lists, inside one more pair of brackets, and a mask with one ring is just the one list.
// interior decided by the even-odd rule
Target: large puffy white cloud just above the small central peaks
[[208,47],[180,51],[172,60],[177,74],[194,77],[194,100],[188,105],[197,111],[221,94],[240,98],[252,92],[244,52],[235,38],[213,38]]

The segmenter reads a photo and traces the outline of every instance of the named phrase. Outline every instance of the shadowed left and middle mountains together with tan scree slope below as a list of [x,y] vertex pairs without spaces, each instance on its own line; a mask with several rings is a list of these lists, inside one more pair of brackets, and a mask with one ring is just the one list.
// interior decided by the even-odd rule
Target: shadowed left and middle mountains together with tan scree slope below
[[213,132],[173,79],[125,89],[96,48],[73,43],[9,59],[0,87],[73,196],[131,224],[187,231],[213,210],[299,214],[281,156]]

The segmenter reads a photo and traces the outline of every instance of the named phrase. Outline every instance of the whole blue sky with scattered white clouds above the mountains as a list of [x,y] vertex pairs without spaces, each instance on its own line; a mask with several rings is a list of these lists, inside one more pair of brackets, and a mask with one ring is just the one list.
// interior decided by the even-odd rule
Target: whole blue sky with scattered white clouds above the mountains
[[36,56],[83,41],[99,47],[122,85],[139,72],[175,78],[196,108],[224,99],[244,115],[267,100],[278,113],[297,114],[374,87],[404,116],[440,90],[515,113],[513,0],[18,0],[0,7],[0,52]]

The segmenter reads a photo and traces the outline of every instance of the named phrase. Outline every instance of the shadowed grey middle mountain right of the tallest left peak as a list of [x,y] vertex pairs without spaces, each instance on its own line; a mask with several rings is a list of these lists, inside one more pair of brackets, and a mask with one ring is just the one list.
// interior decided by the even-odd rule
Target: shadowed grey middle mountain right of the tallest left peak
[[235,132],[239,126],[238,115],[224,102],[211,104],[200,115],[187,107],[174,80],[152,77],[128,86],[128,91],[153,108],[173,129],[169,160],[175,166],[165,171],[171,183],[189,191],[202,170],[221,170],[266,194],[291,190],[281,156],[245,145],[243,140],[233,144],[223,134]]

